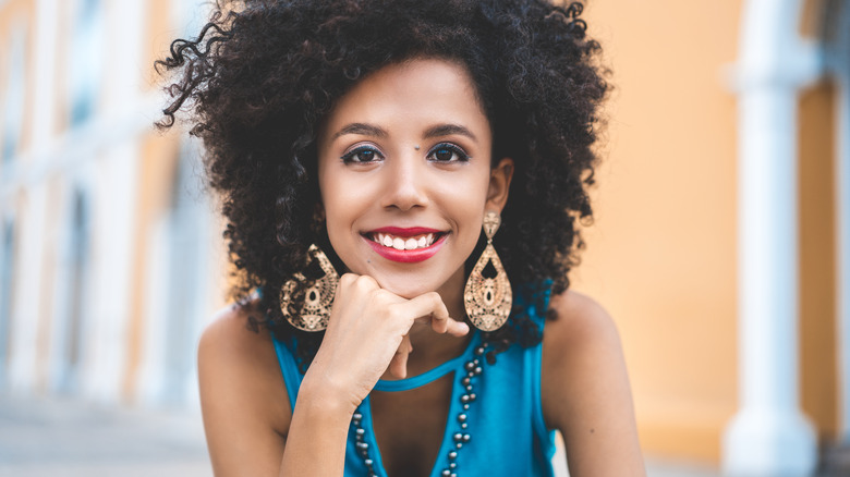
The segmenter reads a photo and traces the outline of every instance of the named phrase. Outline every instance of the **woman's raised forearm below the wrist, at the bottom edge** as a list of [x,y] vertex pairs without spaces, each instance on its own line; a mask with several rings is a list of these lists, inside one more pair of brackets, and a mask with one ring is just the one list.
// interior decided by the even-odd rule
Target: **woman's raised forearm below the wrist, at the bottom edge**
[[280,476],[342,476],[354,408],[302,387],[287,437]]

